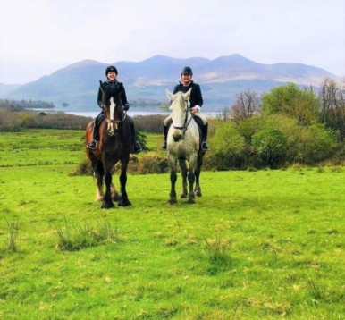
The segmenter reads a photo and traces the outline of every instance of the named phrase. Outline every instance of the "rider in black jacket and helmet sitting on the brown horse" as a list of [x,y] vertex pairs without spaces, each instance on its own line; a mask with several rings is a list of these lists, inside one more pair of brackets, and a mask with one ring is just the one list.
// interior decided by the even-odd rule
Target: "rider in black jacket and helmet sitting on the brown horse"
[[[117,69],[113,65],[110,65],[109,67],[107,67],[105,70],[105,76],[106,76],[107,81],[103,82],[103,85],[107,86],[108,84],[115,84],[117,86],[118,90],[120,91],[120,98],[122,101],[122,109],[124,111],[127,111],[128,109],[130,109],[130,104],[127,101],[126,91],[123,87],[123,83],[116,80],[117,74],[118,74]],[[94,128],[92,131],[92,139],[88,142],[88,145],[87,145],[87,147],[91,150],[96,149],[99,125],[105,117],[104,105],[102,104],[102,90],[101,90],[101,88],[99,88],[99,90],[98,90],[97,105],[99,105],[99,107],[102,109],[102,111],[95,118]],[[131,137],[132,137],[132,150],[131,151],[133,153],[138,153],[138,152],[142,151],[142,148],[141,148],[139,142],[135,140],[134,122],[133,122],[133,119],[129,115],[127,115],[127,119],[128,119],[128,122],[130,123],[130,131],[131,131]]]

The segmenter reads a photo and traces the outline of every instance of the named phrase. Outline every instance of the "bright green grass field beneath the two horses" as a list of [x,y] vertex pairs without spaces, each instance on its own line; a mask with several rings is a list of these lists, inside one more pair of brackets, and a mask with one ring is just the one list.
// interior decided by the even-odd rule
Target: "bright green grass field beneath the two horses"
[[130,174],[102,210],[82,136],[0,134],[0,318],[345,317],[344,168],[204,172],[175,206],[168,173]]

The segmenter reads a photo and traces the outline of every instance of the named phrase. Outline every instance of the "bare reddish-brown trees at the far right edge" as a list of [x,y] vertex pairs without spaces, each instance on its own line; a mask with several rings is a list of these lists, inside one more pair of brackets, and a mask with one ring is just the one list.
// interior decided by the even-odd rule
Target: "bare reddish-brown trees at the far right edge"
[[325,79],[319,93],[320,122],[345,139],[345,84],[339,86],[335,80]]

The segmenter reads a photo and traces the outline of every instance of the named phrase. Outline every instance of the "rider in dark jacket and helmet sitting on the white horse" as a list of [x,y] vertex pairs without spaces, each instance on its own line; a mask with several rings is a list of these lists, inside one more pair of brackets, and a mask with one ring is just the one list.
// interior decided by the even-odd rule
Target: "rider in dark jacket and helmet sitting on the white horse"
[[[193,72],[190,67],[184,67],[181,71],[181,81],[178,85],[175,86],[173,89],[173,94],[177,93],[178,91],[182,91],[183,93],[186,93],[189,88],[191,89],[190,92],[190,112],[193,116],[193,118],[196,120],[198,125],[201,127],[201,133],[202,133],[202,142],[201,142],[201,150],[207,151],[208,145],[207,145],[207,131],[208,131],[208,124],[207,119],[204,114],[201,114],[200,109],[203,105],[203,97],[201,94],[200,86],[191,80],[193,76]],[[172,121],[171,116],[169,115],[163,122],[163,130],[164,130],[164,145],[162,146],[162,149],[166,150],[166,137],[168,135],[169,130],[169,123]]]

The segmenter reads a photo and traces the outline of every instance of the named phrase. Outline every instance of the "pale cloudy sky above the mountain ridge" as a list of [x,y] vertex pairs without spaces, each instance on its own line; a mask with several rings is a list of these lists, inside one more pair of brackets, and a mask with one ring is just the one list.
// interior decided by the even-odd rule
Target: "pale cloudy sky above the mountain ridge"
[[345,77],[344,17],[344,0],[0,0],[0,83],[154,55],[240,54]]

